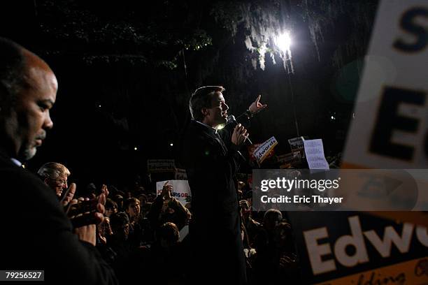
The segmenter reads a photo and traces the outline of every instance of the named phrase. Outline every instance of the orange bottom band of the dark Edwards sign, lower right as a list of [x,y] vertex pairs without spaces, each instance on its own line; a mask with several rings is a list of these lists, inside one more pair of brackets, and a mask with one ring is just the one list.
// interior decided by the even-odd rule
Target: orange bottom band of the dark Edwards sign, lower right
[[355,275],[321,282],[316,285],[426,285],[428,284],[428,256],[411,261],[376,268]]

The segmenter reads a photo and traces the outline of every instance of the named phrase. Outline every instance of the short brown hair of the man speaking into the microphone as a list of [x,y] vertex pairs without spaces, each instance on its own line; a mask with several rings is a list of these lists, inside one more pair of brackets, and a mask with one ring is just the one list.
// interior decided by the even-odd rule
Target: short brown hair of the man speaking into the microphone
[[211,108],[211,99],[215,92],[223,92],[224,90],[222,86],[204,86],[196,89],[189,101],[192,119],[201,122],[204,119],[204,115],[201,112],[202,108]]

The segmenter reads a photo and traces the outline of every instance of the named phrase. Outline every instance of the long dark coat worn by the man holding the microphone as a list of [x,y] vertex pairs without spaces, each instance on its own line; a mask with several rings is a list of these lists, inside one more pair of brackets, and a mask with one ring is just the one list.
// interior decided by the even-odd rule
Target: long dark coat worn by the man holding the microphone
[[[222,132],[222,138],[229,140],[230,130]],[[233,145],[227,145],[213,128],[195,121],[190,123],[183,140],[182,163],[192,191],[190,240],[197,258],[194,273],[213,283],[245,284],[245,258],[233,180],[238,153]]]

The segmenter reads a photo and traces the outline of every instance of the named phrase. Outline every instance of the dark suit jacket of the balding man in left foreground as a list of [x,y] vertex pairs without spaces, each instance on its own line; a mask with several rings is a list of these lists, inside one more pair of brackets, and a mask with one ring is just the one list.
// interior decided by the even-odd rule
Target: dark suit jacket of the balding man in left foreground
[[51,284],[116,284],[92,244],[72,233],[54,191],[0,151],[0,268],[45,270]]

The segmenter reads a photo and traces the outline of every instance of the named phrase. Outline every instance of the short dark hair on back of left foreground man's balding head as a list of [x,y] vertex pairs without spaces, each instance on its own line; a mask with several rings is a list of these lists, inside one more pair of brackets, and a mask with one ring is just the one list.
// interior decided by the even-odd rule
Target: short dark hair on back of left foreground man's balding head
[[11,105],[16,95],[27,87],[24,47],[0,37],[0,108]]

